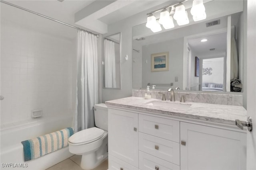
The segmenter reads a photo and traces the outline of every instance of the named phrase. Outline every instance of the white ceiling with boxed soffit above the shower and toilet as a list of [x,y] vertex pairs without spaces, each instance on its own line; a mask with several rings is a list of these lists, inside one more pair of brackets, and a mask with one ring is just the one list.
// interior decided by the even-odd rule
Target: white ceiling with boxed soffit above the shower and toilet
[[[148,10],[167,0],[6,0],[56,20],[107,33],[108,25]],[[172,0],[170,2],[174,2]]]

